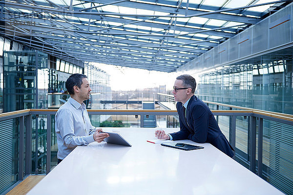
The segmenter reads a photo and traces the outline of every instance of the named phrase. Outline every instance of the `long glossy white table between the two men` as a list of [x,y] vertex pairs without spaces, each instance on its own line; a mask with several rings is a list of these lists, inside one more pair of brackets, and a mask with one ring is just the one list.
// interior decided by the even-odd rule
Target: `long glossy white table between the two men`
[[120,134],[132,147],[78,146],[28,195],[284,195],[209,143],[181,140],[205,147],[183,151],[146,142],[154,128]]

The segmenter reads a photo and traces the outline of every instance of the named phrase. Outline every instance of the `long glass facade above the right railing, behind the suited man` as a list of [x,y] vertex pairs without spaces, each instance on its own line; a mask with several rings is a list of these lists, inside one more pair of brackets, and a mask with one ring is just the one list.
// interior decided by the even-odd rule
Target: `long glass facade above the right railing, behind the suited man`
[[293,114],[293,47],[196,75],[203,100]]

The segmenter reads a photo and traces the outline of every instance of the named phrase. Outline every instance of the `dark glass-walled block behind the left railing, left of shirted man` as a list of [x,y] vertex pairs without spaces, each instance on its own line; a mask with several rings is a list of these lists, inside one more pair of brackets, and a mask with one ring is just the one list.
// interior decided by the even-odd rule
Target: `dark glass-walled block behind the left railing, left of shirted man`
[[3,52],[3,112],[47,107],[47,63],[39,51]]

